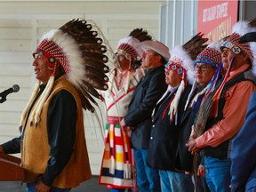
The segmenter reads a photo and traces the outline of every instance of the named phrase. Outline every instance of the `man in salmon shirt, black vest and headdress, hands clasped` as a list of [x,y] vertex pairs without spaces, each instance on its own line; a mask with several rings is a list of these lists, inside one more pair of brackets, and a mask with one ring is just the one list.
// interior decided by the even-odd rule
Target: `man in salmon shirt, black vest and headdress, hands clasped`
[[231,140],[244,124],[250,96],[256,89],[252,75],[255,49],[248,43],[239,42],[244,33],[256,31],[251,23],[237,22],[233,33],[220,46],[226,75],[214,94],[203,134],[195,136],[192,133],[187,144],[192,154],[200,149],[204,154],[206,182],[211,191],[230,191]]

